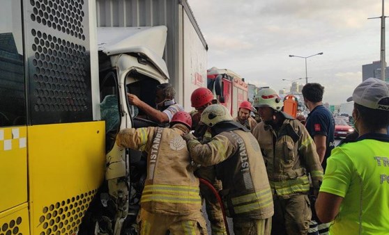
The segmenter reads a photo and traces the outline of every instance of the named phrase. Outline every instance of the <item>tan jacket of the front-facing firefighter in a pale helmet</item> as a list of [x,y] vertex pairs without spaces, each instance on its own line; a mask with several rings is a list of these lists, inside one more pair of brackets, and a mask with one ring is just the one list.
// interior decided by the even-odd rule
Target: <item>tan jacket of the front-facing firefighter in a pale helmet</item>
[[260,122],[252,134],[261,146],[270,186],[275,195],[288,198],[293,194],[308,193],[308,173],[313,187],[319,189],[323,168],[314,141],[300,121],[285,116],[278,131]]

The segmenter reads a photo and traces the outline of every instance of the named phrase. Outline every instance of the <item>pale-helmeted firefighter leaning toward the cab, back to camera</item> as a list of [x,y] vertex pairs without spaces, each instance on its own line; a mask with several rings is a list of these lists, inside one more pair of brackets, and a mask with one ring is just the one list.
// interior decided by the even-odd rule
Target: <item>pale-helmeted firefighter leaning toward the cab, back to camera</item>
[[211,141],[201,144],[191,133],[184,138],[194,162],[216,165],[234,233],[270,234],[273,198],[257,140],[220,104],[208,106],[200,121],[211,131]]

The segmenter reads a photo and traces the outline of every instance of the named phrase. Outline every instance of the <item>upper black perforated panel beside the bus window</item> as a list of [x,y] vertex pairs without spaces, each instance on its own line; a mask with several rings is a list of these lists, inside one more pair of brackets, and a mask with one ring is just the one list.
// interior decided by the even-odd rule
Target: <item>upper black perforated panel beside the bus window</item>
[[24,1],[31,124],[93,119],[87,4]]

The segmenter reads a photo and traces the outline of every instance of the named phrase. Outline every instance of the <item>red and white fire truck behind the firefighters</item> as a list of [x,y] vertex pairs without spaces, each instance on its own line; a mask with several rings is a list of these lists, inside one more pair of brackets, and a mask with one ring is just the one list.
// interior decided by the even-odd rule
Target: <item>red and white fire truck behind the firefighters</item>
[[238,115],[241,102],[247,100],[245,79],[231,70],[211,67],[207,70],[207,87],[233,117]]

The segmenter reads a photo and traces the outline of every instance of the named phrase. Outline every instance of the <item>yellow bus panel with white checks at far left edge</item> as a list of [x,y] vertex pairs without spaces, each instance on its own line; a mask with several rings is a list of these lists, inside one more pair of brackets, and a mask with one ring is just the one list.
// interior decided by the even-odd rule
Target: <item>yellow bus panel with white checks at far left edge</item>
[[0,212],[27,202],[26,127],[0,128]]

